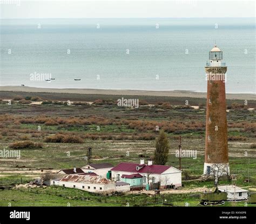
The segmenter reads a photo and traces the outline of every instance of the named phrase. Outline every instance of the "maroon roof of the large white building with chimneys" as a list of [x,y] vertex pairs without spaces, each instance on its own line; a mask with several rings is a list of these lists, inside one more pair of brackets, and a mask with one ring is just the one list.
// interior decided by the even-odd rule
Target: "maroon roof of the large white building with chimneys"
[[124,171],[124,172],[134,172],[134,173],[154,173],[154,174],[161,174],[169,169],[171,166],[164,166],[164,165],[145,165],[144,167],[140,168],[138,171],[136,167],[140,164],[133,164],[131,162],[122,162],[116,167],[112,168],[111,171]]

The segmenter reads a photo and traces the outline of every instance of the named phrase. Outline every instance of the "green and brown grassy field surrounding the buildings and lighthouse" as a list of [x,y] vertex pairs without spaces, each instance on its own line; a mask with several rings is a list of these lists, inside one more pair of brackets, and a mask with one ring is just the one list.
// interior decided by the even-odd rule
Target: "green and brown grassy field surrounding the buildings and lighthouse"
[[[6,97],[7,93],[1,93]],[[1,96],[0,94],[0,96]],[[25,94],[25,93],[22,93]],[[28,93],[26,93],[28,94]],[[41,93],[42,98],[50,97]],[[77,96],[75,96],[77,95]],[[101,96],[80,96],[75,94],[70,100],[93,101]],[[79,95],[79,96],[78,96]],[[12,97],[12,95],[11,95]],[[51,100],[67,100],[65,95],[52,94]],[[84,97],[84,98],[83,98]],[[110,99],[109,96],[103,98]],[[134,96],[133,96],[134,98]],[[173,105],[179,105],[184,99],[177,98],[149,98],[150,103],[156,101],[169,101]],[[180,101],[181,100],[181,101]],[[203,103],[205,99],[192,99],[193,105]],[[228,104],[235,100],[228,101]],[[236,103],[241,103],[235,101]],[[184,103],[184,102],[183,102]],[[191,103],[191,104],[192,104]],[[251,102],[254,105],[254,101]],[[179,159],[176,157],[179,136],[182,137],[183,150],[196,150],[197,158],[182,158],[183,189],[198,187],[211,188],[212,180],[198,181],[203,173],[204,148],[205,148],[205,108],[193,110],[183,108],[177,110],[163,110],[158,107],[122,108],[110,105],[6,105],[0,104],[0,147],[9,148],[10,144],[17,141],[31,140],[41,142],[42,148],[24,148],[21,150],[21,159],[1,158],[0,186],[13,187],[16,184],[25,183],[35,177],[43,175],[52,169],[82,167],[86,165],[85,155],[87,147],[92,147],[92,162],[110,162],[117,165],[120,162],[139,162],[141,157],[146,160],[152,157],[155,148],[155,140],[158,132],[154,130],[156,124],[164,125],[166,122],[173,125],[166,131],[170,142],[170,153],[167,165],[179,168]],[[58,124],[36,123],[33,119],[52,119],[64,121]],[[94,120],[93,120],[93,119]],[[28,121],[27,121],[27,120]],[[72,123],[66,121],[73,120]],[[82,120],[82,122],[80,122]],[[123,121],[125,120],[125,122]],[[139,125],[131,125],[130,122],[140,122]],[[230,169],[232,174],[238,174],[237,185],[245,189],[256,186],[256,153],[255,147],[255,112],[247,110],[230,110],[227,113],[228,141],[230,155]],[[145,126],[143,126],[146,124]],[[178,125],[178,126],[176,126]],[[38,131],[38,126],[41,131]],[[97,130],[97,127],[100,130]],[[174,127],[175,126],[175,127]],[[45,142],[45,139],[53,134],[73,134],[79,136],[83,143],[55,143]],[[94,137],[90,137],[92,134]],[[103,139],[103,135],[106,138]],[[133,137],[150,135],[150,140],[136,139]],[[95,136],[99,137],[96,139]],[[153,138],[152,138],[153,136]],[[124,138],[125,137],[125,138]],[[247,156],[245,155],[247,153]],[[41,172],[43,170],[43,172]],[[185,171],[188,179],[185,181]],[[249,182],[248,182],[249,180]],[[227,184],[225,178],[220,179],[220,184]],[[61,195],[61,196],[60,196]],[[87,198],[87,199],[83,199]],[[99,198],[101,201],[99,201]],[[134,201],[135,200],[135,201]],[[37,188],[37,189],[10,189],[0,190],[0,206],[163,206],[163,201],[173,203],[174,206],[197,206],[198,195],[164,195],[158,196],[156,203],[150,195],[99,196],[76,189],[63,188]],[[238,202],[238,206],[244,206],[244,202]],[[200,205],[199,205],[200,206]],[[230,206],[230,202],[225,206]]]

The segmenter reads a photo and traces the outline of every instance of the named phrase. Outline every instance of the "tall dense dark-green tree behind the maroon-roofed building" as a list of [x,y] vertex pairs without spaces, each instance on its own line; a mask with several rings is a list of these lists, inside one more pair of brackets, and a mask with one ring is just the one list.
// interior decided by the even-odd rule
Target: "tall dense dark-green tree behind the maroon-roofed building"
[[165,165],[168,160],[169,141],[166,134],[161,131],[156,140],[156,150],[154,151],[154,164]]

